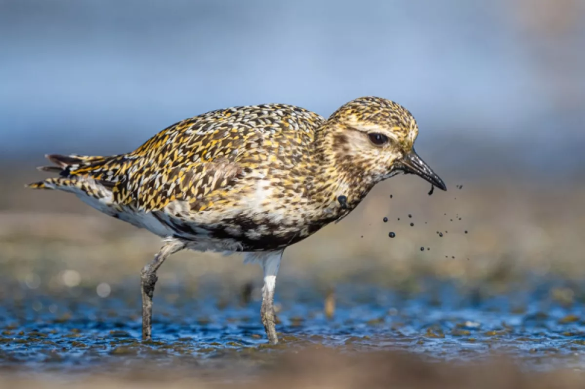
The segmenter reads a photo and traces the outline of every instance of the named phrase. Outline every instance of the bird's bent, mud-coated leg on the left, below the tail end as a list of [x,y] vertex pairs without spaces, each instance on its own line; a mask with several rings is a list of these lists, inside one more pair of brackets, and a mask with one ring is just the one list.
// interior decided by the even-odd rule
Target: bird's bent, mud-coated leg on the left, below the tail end
[[177,240],[168,240],[154,260],[146,264],[140,272],[140,291],[142,292],[142,339],[148,340],[152,337],[152,295],[154,293],[154,284],[157,279],[156,271],[169,255],[182,250],[185,247],[183,243]]

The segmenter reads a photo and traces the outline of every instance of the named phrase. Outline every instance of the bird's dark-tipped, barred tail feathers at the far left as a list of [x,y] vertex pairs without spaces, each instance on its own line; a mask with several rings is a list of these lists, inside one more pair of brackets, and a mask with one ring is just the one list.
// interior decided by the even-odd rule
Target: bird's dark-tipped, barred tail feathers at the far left
[[[88,156],[88,155],[59,155],[49,154],[45,157],[53,163],[53,166],[39,166],[37,169],[43,172],[59,173],[59,177],[47,178],[42,181],[33,182],[26,187],[33,189],[67,189],[74,187],[79,179],[101,180],[106,172],[111,175],[112,171],[107,169],[108,162],[116,156]],[[104,180],[106,183],[107,180]]]

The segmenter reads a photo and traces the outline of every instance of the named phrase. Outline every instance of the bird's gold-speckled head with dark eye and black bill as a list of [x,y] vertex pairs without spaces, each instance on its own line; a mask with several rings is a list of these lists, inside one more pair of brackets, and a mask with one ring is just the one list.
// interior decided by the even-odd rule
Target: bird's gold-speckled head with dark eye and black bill
[[373,183],[398,173],[421,176],[447,190],[445,183],[415,152],[418,125],[402,105],[380,97],[344,104],[328,119],[335,164]]

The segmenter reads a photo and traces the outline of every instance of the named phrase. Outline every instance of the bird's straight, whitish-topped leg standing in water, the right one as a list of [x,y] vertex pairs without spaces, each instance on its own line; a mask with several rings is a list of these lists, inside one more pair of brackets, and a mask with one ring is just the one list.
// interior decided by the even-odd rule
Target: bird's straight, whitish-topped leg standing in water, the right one
[[282,257],[283,251],[271,251],[264,254],[261,259],[262,269],[264,271],[264,286],[262,288],[260,316],[270,344],[278,343],[274,323],[274,288],[276,287],[276,275],[278,274]]

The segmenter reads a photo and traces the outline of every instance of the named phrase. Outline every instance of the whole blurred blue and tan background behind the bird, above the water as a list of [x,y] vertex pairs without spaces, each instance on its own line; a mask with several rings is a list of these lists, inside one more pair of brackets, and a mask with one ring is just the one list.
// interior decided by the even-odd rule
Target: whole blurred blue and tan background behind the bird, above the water
[[[137,298],[160,245],[70,195],[23,189],[44,176],[44,153],[131,151],[232,105],[328,117],[379,95],[415,115],[417,151],[449,191],[393,178],[291,247],[284,308],[298,285],[321,301],[342,284],[429,292],[429,278],[462,296],[544,288],[542,301],[579,307],[584,47],[581,0],[0,0],[0,296],[87,286]],[[209,280],[228,299],[261,286],[260,269],[212,254],[181,252],[159,274],[161,295]]]

